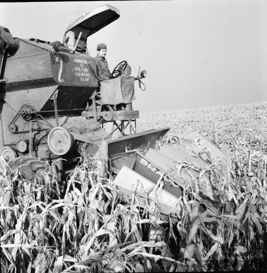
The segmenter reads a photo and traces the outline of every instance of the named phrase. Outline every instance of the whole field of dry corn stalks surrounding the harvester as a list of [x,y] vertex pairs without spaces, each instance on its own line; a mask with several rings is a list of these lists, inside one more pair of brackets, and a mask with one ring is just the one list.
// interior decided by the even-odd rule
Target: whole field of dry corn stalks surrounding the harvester
[[[267,103],[151,112],[138,120],[139,132],[165,126],[171,133],[159,145],[176,142],[183,150],[181,134],[195,130],[233,160],[210,154],[207,168],[194,166],[199,183],[184,179],[182,215],[178,204],[162,215],[156,194],[142,185],[137,191],[139,180],[131,196],[118,190],[101,176],[109,160],[101,154],[83,153],[67,181],[57,177],[58,162],[27,181],[0,159],[2,272],[267,270]],[[159,180],[154,193],[163,185]],[[198,192],[210,195],[218,213],[196,200]]]

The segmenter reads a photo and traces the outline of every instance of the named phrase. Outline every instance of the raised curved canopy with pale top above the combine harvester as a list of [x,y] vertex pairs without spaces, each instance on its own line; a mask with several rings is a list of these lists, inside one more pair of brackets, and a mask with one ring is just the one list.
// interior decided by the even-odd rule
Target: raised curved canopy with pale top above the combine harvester
[[68,26],[64,35],[64,43],[68,44],[69,49],[74,48],[77,38],[82,32],[77,49],[84,49],[88,36],[114,22],[119,16],[119,10],[110,5],[97,7]]

